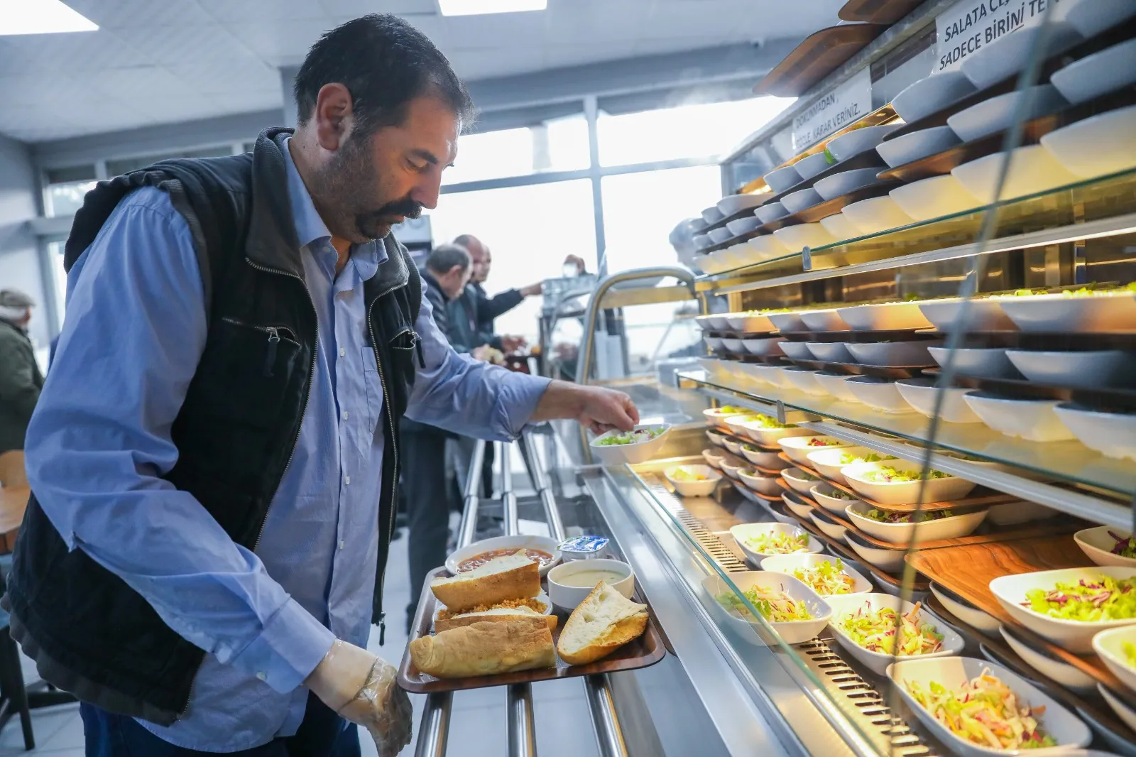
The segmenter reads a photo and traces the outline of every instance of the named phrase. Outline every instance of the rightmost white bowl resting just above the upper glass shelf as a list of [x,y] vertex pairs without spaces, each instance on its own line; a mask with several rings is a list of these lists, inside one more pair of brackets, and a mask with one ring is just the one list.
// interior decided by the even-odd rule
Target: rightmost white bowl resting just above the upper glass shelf
[[1128,106],[1052,131],[1042,147],[1077,176],[1094,178],[1136,167],[1133,132],[1136,106]]

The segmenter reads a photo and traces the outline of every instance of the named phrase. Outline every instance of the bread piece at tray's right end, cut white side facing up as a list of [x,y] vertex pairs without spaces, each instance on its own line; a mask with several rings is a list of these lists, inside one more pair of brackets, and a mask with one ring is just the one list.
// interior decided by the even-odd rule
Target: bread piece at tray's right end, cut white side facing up
[[624,597],[604,582],[596,584],[568,616],[557,652],[569,665],[605,657],[646,630],[646,605]]

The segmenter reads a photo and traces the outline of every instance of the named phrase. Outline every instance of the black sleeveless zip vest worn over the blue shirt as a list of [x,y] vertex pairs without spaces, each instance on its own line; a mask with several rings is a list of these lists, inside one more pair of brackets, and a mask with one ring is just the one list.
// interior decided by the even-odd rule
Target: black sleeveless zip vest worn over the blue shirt
[[[141,186],[167,192],[185,217],[209,332],[172,430],[177,464],[164,477],[192,493],[234,542],[251,550],[295,447],[315,368],[316,311],[287,197],[283,138],[289,132],[267,130],[252,153],[167,160],[100,182],[75,214],[65,255],[69,269],[123,197]],[[384,394],[373,608],[381,623],[398,497],[398,430],[415,375],[421,282],[393,236],[376,243],[385,244],[389,259],[364,293]],[[60,689],[160,724],[173,723],[189,704],[204,652],[162,623],[122,579],[81,549],[68,551],[34,492],[3,605],[11,612],[12,637],[44,680]]]

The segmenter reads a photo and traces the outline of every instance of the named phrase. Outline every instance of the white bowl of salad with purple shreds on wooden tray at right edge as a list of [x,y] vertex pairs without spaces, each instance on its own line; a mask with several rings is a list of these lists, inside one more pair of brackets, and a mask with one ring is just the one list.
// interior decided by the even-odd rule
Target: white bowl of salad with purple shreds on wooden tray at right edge
[[[1133,588],[1127,592],[1116,588],[1110,590],[1102,583],[1102,579],[1110,582],[1122,581]],[[1058,584],[1061,584],[1060,589]],[[1136,568],[1064,568],[1004,575],[991,581],[989,590],[1014,621],[1077,655],[1092,651],[1096,633],[1136,624]],[[1110,592],[1108,607],[1127,617],[1106,621],[1076,619],[1091,617],[1094,614],[1092,599],[1097,599],[1104,592]],[[1033,609],[1030,605],[1044,601],[1045,597],[1060,602],[1067,617],[1055,617]]]

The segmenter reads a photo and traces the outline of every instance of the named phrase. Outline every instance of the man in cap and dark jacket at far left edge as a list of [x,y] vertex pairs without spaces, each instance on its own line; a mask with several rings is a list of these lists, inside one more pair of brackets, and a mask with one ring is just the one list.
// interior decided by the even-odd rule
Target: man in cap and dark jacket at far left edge
[[43,388],[27,338],[34,306],[35,300],[19,290],[0,290],[0,454],[24,449],[27,422]]

